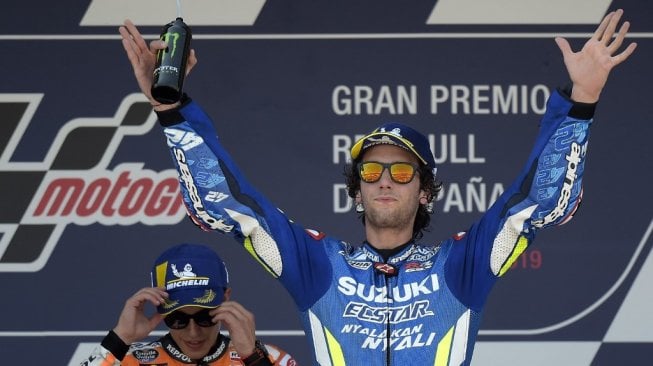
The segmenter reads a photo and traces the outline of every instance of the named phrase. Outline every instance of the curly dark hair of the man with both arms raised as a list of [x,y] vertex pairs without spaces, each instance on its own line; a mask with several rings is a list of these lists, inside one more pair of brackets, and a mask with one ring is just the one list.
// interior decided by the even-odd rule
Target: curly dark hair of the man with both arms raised
[[[343,175],[345,176],[345,183],[347,184],[347,194],[351,198],[356,198],[356,194],[361,189],[361,178],[358,175],[358,164],[361,162],[361,159],[354,160],[350,164],[346,164],[344,167]],[[426,205],[420,205],[417,209],[417,216],[415,217],[415,222],[413,223],[413,240],[418,240],[424,235],[424,231],[427,230],[428,226],[431,224],[431,213],[432,208],[435,204],[435,199],[438,197],[438,194],[442,190],[442,181],[438,180],[437,177],[433,174],[433,171],[426,167],[426,165],[420,164],[419,169],[419,184],[420,189],[426,192],[426,200],[429,203],[432,203],[431,211]],[[361,213],[359,218],[365,225],[365,213]]]

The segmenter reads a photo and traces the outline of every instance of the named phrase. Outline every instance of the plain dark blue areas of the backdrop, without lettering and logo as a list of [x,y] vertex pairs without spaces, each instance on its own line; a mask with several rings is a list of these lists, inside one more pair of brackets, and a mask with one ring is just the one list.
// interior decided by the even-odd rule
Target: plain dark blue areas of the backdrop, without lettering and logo
[[[252,27],[197,27],[201,34],[337,34],[416,32],[591,32],[566,26],[428,26],[434,1],[267,2]],[[42,93],[43,100],[13,161],[41,161],[61,127],[80,117],[112,117],[122,99],[137,92],[117,27],[80,27],[88,1],[13,2],[3,10],[0,93]],[[487,307],[483,329],[532,329],[563,321],[587,308],[624,271],[651,220],[650,136],[651,5],[615,1],[641,32],[639,48],[611,75],[597,107],[585,174],[585,199],[572,224],[541,233],[539,269],[517,269],[500,281]],[[162,24],[170,18],[162,15]],[[191,24],[192,25],[192,24]],[[158,27],[144,27],[155,34]],[[111,35],[47,39],[47,35]],[[570,39],[578,48],[581,39]],[[334,134],[364,133],[399,119],[425,133],[476,138],[485,164],[440,167],[445,183],[461,187],[482,177],[507,186],[534,139],[539,116],[464,115],[429,112],[430,85],[529,85],[567,83],[559,51],[550,37],[401,39],[196,39],[199,64],[186,90],[216,121],[223,143],[260,190],[301,224],[351,242],[363,231],[356,215],[333,213],[332,187],[342,183],[342,164],[332,162]],[[338,116],[331,109],[337,85],[417,85],[416,115]],[[466,140],[461,140],[464,149]],[[466,151],[466,150],[463,150]],[[80,151],[80,154],[83,154]],[[111,166],[141,162],[170,169],[164,139],[155,126],[126,137]],[[0,166],[0,170],[6,170]],[[80,174],[83,174],[81,172]],[[0,202],[8,208],[12,202]],[[5,206],[6,205],[6,206]],[[439,202],[426,241],[465,230],[481,212],[442,212]],[[264,331],[300,330],[292,300],[230,238],[200,232],[183,219],[177,225],[105,226],[69,224],[44,268],[0,272],[4,314],[0,359],[6,364],[67,364],[79,342],[98,342],[117,321],[124,300],[149,285],[150,264],[163,249],[182,242],[212,244],[227,260],[234,298],[256,314]],[[651,243],[644,250],[650,251]],[[643,260],[636,262],[637,273]],[[653,279],[647,279],[649,283]],[[600,341],[632,283],[572,326],[540,336],[481,335],[481,340]],[[38,332],[23,336],[21,332]],[[48,332],[83,333],[75,336]],[[89,334],[93,335],[89,335]],[[309,360],[301,336],[263,336]]]

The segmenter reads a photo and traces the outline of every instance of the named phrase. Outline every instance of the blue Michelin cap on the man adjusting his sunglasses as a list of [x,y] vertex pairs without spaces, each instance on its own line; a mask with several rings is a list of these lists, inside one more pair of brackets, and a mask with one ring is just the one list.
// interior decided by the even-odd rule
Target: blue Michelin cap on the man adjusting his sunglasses
[[157,307],[167,315],[186,306],[215,308],[222,303],[229,287],[227,267],[218,254],[207,246],[180,244],[154,262],[152,287],[165,288],[168,300]]

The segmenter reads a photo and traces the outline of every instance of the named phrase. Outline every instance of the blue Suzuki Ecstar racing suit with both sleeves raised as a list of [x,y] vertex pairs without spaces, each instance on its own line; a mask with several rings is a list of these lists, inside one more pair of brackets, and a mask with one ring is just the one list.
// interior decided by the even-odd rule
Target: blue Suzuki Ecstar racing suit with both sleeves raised
[[192,100],[159,120],[191,218],[231,234],[281,281],[315,364],[440,366],[470,364],[495,281],[538,229],[574,213],[593,113],[554,91],[526,166],[487,212],[467,232],[435,246],[410,243],[385,263],[367,243],[290,220],[243,177]]

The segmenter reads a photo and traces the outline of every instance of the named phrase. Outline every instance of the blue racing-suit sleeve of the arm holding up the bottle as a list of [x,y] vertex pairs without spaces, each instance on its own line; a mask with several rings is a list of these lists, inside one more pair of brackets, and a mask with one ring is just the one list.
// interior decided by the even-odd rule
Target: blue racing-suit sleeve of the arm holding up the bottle
[[252,187],[195,102],[159,113],[159,120],[191,219],[204,230],[233,236],[281,281],[300,310],[307,309],[330,283],[323,235],[289,220]]

